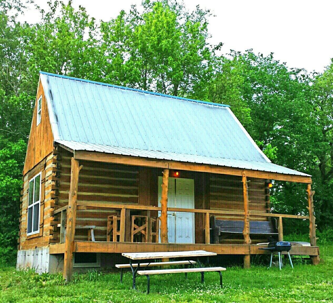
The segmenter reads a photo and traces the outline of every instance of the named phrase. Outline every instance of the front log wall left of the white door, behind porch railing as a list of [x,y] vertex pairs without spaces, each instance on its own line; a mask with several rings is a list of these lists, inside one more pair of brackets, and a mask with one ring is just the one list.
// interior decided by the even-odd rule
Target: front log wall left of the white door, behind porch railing
[[[61,149],[59,166],[59,193],[57,208],[68,204],[68,194],[71,181],[72,153]],[[79,161],[83,165],[79,173],[78,199],[96,203],[139,204],[139,167]],[[77,211],[77,226],[95,225],[96,241],[106,241],[107,218],[110,215],[120,215],[110,208],[88,207]],[[60,213],[56,222],[60,223]],[[54,239],[59,242],[60,228],[57,228]],[[75,240],[87,240],[86,229],[76,229]]]

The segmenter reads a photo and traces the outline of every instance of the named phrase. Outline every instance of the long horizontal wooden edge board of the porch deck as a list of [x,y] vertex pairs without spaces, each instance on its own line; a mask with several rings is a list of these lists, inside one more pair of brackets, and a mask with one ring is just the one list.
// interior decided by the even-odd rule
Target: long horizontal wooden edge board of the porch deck
[[[270,254],[259,248],[265,245],[255,244],[174,244],[174,243],[133,243],[133,242],[92,242],[75,241],[74,252],[99,252],[99,253],[123,253],[123,252],[160,252],[160,251],[186,251],[206,250],[221,255],[258,255]],[[50,254],[62,254],[65,252],[65,243],[50,244]],[[287,254],[283,252],[282,254]],[[318,246],[295,246],[290,250],[291,255],[319,256]]]

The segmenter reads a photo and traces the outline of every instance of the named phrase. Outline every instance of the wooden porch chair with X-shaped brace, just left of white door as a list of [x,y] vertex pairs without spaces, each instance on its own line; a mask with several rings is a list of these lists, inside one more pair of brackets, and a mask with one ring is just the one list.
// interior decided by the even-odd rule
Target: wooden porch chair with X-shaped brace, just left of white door
[[[155,224],[155,232],[153,232]],[[155,242],[159,242],[160,219],[150,216],[133,215],[131,216],[131,242],[134,242],[134,236],[137,235],[138,242],[152,242],[152,236],[155,236]]]

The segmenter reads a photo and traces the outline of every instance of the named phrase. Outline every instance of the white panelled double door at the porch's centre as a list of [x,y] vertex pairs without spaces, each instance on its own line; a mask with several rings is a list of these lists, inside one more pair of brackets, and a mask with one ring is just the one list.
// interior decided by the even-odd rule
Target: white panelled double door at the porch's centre
[[[162,177],[159,177],[159,206],[161,206],[161,196]],[[194,208],[193,179],[169,178],[167,207]],[[173,211],[167,213],[169,243],[194,243],[194,213]]]

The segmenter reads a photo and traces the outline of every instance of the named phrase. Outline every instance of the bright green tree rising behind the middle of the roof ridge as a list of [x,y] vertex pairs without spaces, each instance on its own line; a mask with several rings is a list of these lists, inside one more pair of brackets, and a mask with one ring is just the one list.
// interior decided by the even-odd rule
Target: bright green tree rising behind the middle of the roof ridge
[[143,2],[101,24],[111,83],[195,97],[212,72],[207,11],[189,14],[171,1]]

